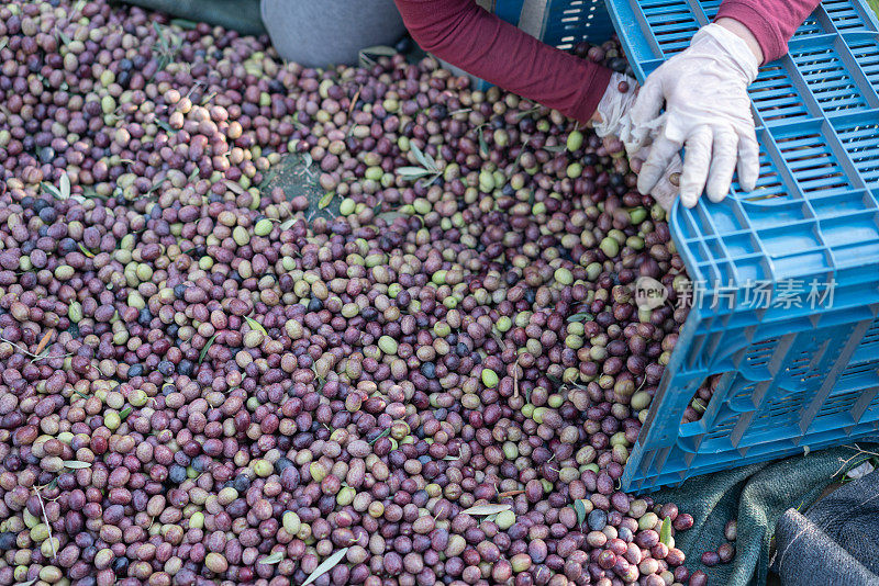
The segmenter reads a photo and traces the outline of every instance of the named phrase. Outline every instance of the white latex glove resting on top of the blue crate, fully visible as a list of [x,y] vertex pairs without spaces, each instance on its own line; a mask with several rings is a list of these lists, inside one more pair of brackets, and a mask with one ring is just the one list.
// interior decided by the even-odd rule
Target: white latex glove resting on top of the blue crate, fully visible
[[[759,177],[759,147],[747,87],[759,63],[735,33],[703,26],[690,47],[654,71],[628,112],[633,143],[653,148],[638,176],[638,190],[650,192],[669,161],[686,145],[681,201],[692,207],[708,182],[708,196],[723,200],[733,171],[752,191]],[[665,101],[665,113],[660,114]]]

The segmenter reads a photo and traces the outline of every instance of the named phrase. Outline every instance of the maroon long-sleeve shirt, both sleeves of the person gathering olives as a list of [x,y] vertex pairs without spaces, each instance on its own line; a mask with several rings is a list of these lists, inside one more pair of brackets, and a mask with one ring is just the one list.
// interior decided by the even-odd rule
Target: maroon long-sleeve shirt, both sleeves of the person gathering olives
[[[481,9],[475,0],[394,0],[415,42],[437,57],[496,86],[586,122],[611,71],[541,43]],[[717,18],[750,30],[766,60],[788,50],[788,40],[819,0],[724,0]]]

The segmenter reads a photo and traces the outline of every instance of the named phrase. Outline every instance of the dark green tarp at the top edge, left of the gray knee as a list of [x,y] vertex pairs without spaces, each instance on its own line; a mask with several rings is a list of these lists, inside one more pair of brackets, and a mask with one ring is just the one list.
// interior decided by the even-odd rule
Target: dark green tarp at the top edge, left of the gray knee
[[207,22],[245,35],[266,32],[259,16],[259,0],[122,0],[147,10],[158,10],[179,19]]

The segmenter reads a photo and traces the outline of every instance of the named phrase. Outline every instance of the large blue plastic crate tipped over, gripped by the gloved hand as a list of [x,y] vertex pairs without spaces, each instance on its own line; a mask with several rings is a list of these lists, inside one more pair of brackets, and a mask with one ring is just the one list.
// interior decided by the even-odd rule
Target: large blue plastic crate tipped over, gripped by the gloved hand
[[[611,0],[638,79],[685,49],[719,0]],[[750,87],[757,190],[671,213],[704,295],[681,329],[623,486],[802,453],[879,432],[879,25],[859,0],[825,0]],[[753,307],[754,282],[834,282],[832,305]],[[727,297],[732,301],[727,303]],[[753,301],[753,300],[750,300]],[[698,421],[681,424],[710,376]]]

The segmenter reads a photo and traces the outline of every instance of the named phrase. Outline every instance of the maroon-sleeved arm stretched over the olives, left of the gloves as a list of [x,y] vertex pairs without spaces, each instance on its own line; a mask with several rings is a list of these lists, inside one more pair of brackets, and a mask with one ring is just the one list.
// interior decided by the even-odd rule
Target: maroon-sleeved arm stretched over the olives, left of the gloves
[[609,69],[541,43],[475,0],[394,1],[424,50],[581,123],[610,81]]

